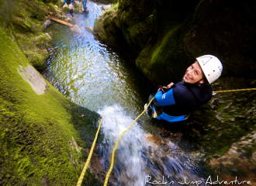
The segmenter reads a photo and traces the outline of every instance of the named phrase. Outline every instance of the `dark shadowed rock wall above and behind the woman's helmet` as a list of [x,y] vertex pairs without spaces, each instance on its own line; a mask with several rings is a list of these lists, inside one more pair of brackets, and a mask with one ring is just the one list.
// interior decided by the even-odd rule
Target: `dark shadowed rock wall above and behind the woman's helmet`
[[254,78],[254,8],[248,1],[119,1],[95,21],[95,36],[128,43],[156,85],[178,81],[195,57],[208,53],[223,62],[224,75]]

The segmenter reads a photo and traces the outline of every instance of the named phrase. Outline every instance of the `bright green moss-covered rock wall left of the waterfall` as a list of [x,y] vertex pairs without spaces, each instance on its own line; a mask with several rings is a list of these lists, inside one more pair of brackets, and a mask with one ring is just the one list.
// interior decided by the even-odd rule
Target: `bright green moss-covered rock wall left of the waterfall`
[[[65,98],[30,66],[26,43],[21,41],[37,48],[40,44],[35,40],[46,42],[43,26],[36,26],[37,19],[31,17],[46,5],[42,1],[1,1],[0,5],[0,185],[75,185],[99,114]],[[15,12],[14,5],[35,14]],[[74,140],[81,150],[72,146]],[[102,183],[87,171],[84,184]]]

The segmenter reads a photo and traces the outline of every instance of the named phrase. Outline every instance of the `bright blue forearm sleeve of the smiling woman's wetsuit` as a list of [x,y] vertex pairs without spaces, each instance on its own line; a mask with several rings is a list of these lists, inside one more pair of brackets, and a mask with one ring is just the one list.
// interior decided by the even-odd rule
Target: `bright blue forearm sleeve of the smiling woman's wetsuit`
[[157,103],[160,106],[175,105],[175,98],[173,96],[172,89],[164,94],[162,91],[157,91],[154,98],[156,98]]

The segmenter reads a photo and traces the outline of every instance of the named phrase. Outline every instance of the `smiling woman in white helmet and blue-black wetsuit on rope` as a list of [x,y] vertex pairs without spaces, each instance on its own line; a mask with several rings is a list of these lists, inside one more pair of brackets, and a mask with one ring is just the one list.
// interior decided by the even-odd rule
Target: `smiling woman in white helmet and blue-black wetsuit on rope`
[[147,115],[168,122],[185,121],[200,105],[212,98],[210,84],[220,77],[222,71],[223,66],[217,57],[197,57],[185,71],[182,81],[176,84],[171,82],[167,87],[159,86],[157,93],[150,95],[148,102],[152,98],[154,101],[147,108]]

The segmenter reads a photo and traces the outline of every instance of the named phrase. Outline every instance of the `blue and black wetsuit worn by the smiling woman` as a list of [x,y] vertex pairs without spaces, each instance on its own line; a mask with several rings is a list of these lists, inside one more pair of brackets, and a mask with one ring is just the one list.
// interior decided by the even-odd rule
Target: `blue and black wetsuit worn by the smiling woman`
[[185,116],[194,112],[200,105],[209,102],[212,94],[209,85],[199,86],[181,81],[172,85],[164,94],[163,91],[157,91],[154,95],[154,104],[150,104],[150,108],[153,113],[157,113],[156,119],[179,122],[185,120]]

